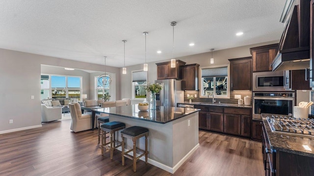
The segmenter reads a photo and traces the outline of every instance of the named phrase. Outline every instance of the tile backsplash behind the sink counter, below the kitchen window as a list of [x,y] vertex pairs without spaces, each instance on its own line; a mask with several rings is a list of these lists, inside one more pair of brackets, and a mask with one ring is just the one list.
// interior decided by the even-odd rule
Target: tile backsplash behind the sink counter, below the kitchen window
[[[212,98],[200,98],[200,93],[199,91],[184,91],[184,101],[189,101],[187,99],[187,94],[190,95],[195,95],[197,94],[197,98],[194,98],[192,101],[196,102],[211,102]],[[241,99],[244,99],[245,96],[252,97],[252,91],[230,91],[230,99],[217,99],[215,98],[216,102],[221,102],[221,103],[233,103],[237,104],[237,99],[235,99],[235,95],[241,95]],[[252,104],[252,99],[251,99],[251,104]]]

